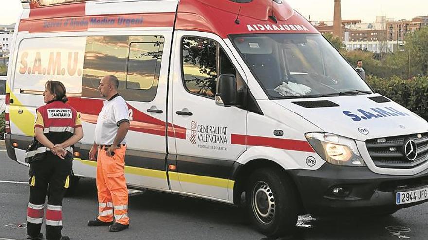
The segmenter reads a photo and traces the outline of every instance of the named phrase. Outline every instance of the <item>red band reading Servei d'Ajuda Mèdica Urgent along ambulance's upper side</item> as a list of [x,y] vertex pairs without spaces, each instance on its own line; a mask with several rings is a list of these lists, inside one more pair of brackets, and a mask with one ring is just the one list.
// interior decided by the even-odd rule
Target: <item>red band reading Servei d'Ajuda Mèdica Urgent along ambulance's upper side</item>
[[[74,4],[73,4],[74,5]],[[39,9],[37,9],[39,10]],[[32,10],[34,11],[34,10]],[[30,12],[31,15],[31,12]],[[46,14],[47,15],[47,14]],[[70,13],[66,13],[70,16]],[[85,15],[85,14],[83,14]],[[173,27],[175,13],[146,13],[131,15],[74,16],[49,19],[21,20],[18,31],[75,32],[88,28]],[[41,16],[38,16],[41,17]]]

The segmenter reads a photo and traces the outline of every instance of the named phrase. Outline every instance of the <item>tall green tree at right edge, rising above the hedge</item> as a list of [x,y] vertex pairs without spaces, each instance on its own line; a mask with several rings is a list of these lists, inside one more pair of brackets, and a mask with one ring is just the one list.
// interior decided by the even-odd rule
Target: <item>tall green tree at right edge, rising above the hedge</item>
[[[408,34],[406,51],[409,52],[412,75],[428,75],[428,27]],[[406,54],[407,58],[407,54]],[[406,59],[407,60],[407,59]]]

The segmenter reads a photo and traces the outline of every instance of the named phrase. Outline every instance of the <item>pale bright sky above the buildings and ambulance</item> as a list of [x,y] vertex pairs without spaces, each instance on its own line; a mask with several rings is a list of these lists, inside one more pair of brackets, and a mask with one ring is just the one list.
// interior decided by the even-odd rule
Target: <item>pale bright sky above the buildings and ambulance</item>
[[[315,21],[333,20],[334,0],[285,0],[306,18]],[[1,0],[7,10],[0,14],[0,25],[15,23],[22,10],[19,0]],[[3,3],[5,2],[5,4]],[[3,9],[5,9],[3,8]],[[376,16],[411,20],[428,16],[428,0],[342,0],[342,18],[374,22]]]

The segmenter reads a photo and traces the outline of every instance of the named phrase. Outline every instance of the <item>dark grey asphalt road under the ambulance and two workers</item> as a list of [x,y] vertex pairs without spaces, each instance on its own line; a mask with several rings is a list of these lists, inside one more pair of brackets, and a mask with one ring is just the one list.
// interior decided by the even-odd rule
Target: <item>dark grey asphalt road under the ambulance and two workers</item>
[[[0,149],[0,240],[26,236],[26,229],[17,224],[26,221],[29,187],[15,181],[27,182],[28,169]],[[63,235],[71,240],[269,240],[252,228],[238,208],[160,192],[130,196],[129,229],[110,233],[107,227],[89,228],[87,221],[97,215],[95,180],[82,179],[78,190],[63,202]],[[306,215],[295,233],[280,240],[426,240],[427,206],[387,217],[312,219]]]

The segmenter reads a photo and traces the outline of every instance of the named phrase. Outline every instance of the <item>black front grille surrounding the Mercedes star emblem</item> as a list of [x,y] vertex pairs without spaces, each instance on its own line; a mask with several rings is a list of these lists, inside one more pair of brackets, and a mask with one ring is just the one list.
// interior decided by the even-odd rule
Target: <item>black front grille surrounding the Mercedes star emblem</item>
[[[414,140],[418,149],[413,161],[404,153],[404,144],[409,140]],[[428,133],[370,139],[366,146],[373,163],[381,168],[410,169],[428,160]]]

